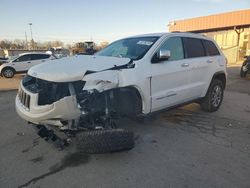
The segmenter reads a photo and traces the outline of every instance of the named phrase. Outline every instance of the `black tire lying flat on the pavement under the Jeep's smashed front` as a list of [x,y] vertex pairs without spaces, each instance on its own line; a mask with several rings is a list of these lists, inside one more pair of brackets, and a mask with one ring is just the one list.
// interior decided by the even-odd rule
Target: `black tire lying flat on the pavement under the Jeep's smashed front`
[[93,130],[76,135],[77,149],[84,153],[109,153],[134,147],[134,134],[123,129]]

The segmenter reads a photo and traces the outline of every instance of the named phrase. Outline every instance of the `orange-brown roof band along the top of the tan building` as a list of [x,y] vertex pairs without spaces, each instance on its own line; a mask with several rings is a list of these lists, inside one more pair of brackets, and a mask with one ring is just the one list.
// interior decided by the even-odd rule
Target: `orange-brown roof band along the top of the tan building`
[[169,23],[169,31],[207,32],[250,27],[250,9],[177,20]]

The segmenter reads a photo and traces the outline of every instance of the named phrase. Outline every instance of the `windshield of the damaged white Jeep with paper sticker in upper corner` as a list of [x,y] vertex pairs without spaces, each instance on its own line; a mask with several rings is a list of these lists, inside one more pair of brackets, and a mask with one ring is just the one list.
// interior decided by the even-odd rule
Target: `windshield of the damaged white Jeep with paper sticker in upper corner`
[[159,37],[136,37],[115,41],[95,55],[141,59]]

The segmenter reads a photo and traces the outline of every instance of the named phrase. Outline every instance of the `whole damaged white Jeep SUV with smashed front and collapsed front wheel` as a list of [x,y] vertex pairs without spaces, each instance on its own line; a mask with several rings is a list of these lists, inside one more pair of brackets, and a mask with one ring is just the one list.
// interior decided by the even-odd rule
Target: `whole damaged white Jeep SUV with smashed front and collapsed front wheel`
[[114,119],[189,102],[213,112],[225,85],[226,58],[212,39],[147,34],[113,42],[93,56],[32,67],[20,84],[16,110],[47,140],[66,144],[76,136],[85,152],[117,151],[132,148],[134,141],[130,131],[116,128]]

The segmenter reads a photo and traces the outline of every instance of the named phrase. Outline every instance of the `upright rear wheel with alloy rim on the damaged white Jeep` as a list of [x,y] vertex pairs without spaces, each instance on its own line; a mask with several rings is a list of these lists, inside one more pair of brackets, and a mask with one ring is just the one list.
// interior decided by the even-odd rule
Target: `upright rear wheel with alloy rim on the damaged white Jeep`
[[200,105],[206,112],[215,112],[219,109],[224,95],[224,88],[221,80],[213,79],[206,96],[202,99]]

